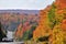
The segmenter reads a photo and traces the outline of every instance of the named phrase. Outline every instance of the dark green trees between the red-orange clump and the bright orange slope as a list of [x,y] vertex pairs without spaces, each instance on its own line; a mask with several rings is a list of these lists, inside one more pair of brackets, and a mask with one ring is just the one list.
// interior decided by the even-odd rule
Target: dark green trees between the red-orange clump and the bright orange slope
[[36,25],[32,25],[31,30],[24,32],[22,40],[31,40],[33,37],[33,31],[35,30]]

